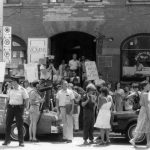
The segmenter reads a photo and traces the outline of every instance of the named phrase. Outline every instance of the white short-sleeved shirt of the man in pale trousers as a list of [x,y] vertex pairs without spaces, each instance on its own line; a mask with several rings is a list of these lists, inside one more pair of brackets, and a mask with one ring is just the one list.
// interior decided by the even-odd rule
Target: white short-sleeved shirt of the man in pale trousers
[[58,91],[56,98],[59,101],[59,106],[65,106],[66,104],[70,103],[73,99],[75,99],[74,93],[70,89],[61,89],[60,91]]

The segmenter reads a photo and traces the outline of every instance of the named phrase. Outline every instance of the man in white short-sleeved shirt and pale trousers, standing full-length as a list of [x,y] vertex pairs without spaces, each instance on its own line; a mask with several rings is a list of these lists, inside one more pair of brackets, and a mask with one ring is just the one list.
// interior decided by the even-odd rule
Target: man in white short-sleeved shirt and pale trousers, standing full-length
[[68,82],[62,81],[62,89],[56,95],[57,112],[62,118],[63,140],[71,143],[73,139],[74,94],[68,89]]

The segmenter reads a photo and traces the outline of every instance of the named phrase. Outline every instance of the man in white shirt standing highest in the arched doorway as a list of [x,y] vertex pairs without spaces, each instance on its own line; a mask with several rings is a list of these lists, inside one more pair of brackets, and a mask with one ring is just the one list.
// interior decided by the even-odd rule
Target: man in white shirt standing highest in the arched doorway
[[72,57],[73,59],[69,61],[70,70],[77,71],[80,65],[79,61],[77,60],[77,54],[73,54]]

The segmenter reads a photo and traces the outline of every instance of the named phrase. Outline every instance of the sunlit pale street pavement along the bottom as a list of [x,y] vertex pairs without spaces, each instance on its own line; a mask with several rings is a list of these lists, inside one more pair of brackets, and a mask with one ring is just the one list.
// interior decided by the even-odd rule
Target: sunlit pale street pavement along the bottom
[[[95,134],[94,134],[95,135]],[[31,143],[25,141],[25,147],[19,147],[18,142],[12,141],[9,146],[2,146],[3,138],[0,139],[0,150],[145,150],[145,145],[132,147],[122,135],[111,134],[111,144],[100,146],[97,144],[83,145],[83,139],[80,134],[75,134],[72,143],[62,143],[56,136],[38,137],[40,142]],[[95,136],[96,138],[96,136]]]

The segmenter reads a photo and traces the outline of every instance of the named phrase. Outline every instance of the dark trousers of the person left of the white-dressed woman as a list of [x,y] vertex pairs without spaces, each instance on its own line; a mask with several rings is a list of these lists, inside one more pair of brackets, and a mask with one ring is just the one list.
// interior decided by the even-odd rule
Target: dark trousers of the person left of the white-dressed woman
[[91,110],[83,111],[83,139],[93,140],[94,112]]

